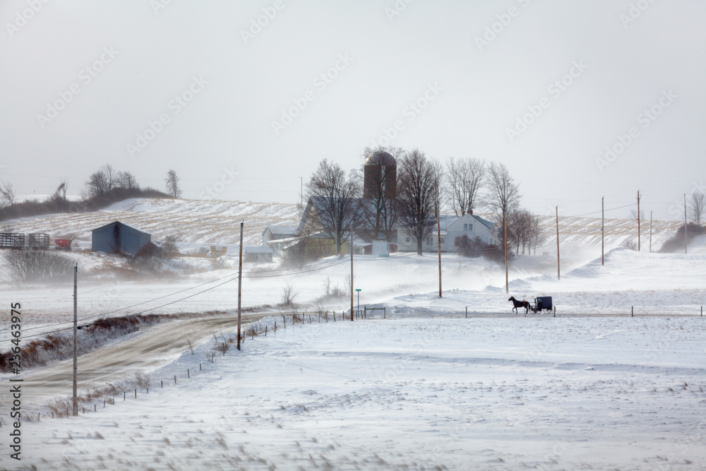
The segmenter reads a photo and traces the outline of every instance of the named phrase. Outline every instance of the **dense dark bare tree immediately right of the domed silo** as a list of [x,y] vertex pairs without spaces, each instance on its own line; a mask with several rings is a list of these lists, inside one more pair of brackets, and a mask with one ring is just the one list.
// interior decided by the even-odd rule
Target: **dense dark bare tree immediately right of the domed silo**
[[397,208],[400,227],[417,240],[417,254],[422,242],[433,230],[439,201],[438,166],[423,152],[414,149],[400,159]]

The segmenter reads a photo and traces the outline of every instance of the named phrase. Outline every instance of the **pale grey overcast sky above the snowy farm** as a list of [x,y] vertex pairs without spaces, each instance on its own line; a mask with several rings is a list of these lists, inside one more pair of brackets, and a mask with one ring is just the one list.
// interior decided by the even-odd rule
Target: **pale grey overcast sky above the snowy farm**
[[109,163],[157,189],[174,169],[185,198],[295,203],[318,162],[359,167],[373,143],[504,162],[539,214],[639,189],[671,219],[705,190],[699,0],[4,0],[0,23],[18,193],[78,194]]

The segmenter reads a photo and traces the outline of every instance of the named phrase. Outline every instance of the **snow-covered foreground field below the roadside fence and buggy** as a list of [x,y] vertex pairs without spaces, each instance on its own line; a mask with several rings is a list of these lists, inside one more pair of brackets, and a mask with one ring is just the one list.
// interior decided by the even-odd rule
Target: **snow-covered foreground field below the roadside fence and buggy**
[[137,398],[25,422],[25,469],[706,467],[700,317],[280,324],[212,346]]

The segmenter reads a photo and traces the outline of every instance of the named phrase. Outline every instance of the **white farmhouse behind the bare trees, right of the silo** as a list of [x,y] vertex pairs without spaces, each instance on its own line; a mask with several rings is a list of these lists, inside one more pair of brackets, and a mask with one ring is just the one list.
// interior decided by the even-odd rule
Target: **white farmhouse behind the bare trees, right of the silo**
[[[455,252],[458,251],[456,246],[456,238],[462,237],[464,234],[469,239],[480,237],[481,241],[486,244],[497,244],[498,239],[495,234],[495,225],[489,220],[485,220],[477,215],[467,214],[463,216],[448,216],[442,215],[440,220],[441,225],[441,251]],[[436,221],[429,234],[421,243],[421,249],[425,252],[436,252],[438,250],[438,231]],[[397,229],[397,250],[398,251],[417,251],[417,239],[410,236],[401,227]]]

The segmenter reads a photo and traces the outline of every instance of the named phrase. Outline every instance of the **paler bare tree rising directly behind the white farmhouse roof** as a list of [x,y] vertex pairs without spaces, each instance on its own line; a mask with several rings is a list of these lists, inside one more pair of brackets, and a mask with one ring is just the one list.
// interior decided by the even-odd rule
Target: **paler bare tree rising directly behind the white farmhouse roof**
[[472,213],[477,205],[478,191],[486,176],[484,160],[474,158],[455,160],[449,157],[446,162],[446,181],[451,208],[457,216]]

